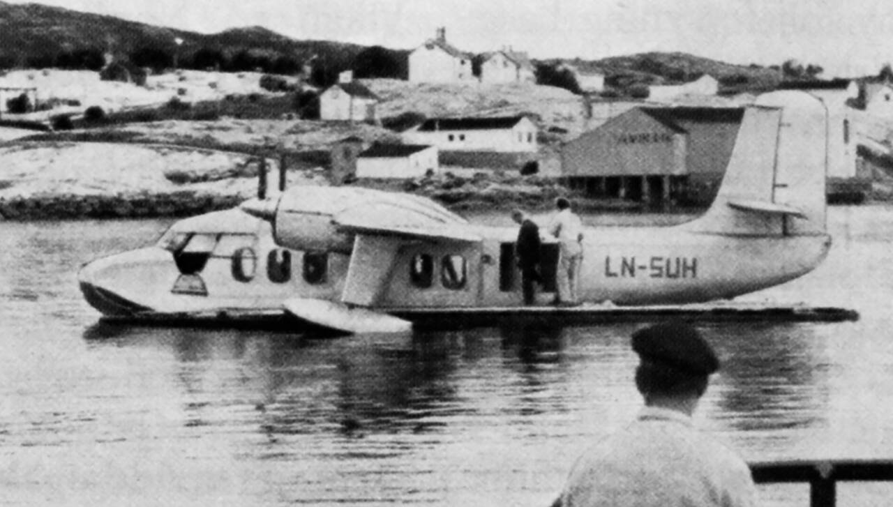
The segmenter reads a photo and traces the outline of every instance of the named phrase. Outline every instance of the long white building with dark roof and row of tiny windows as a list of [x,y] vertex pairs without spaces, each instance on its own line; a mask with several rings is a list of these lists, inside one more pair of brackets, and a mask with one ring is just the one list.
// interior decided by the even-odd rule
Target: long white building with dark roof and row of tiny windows
[[432,118],[404,132],[404,139],[442,151],[532,153],[538,151],[537,133],[526,116]]

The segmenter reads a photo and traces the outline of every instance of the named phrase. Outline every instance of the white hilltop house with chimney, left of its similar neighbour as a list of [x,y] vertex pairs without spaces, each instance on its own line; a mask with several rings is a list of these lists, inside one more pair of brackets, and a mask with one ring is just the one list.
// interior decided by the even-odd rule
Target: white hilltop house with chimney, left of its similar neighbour
[[410,81],[456,83],[472,79],[472,54],[447,43],[445,28],[439,28],[437,37],[428,39],[409,54]]

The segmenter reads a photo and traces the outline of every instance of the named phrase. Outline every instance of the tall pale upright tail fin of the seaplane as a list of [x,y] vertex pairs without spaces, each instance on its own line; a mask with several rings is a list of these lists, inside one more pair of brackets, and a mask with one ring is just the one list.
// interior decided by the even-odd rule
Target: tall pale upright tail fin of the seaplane
[[741,122],[714,203],[689,227],[741,236],[825,232],[828,110],[815,96],[759,96]]

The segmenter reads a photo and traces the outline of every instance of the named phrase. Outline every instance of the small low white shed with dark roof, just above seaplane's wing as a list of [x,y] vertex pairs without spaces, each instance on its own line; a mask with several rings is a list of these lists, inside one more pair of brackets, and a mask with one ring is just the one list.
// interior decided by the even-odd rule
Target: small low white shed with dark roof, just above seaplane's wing
[[430,145],[371,145],[356,159],[356,177],[405,179],[438,171],[438,149]]

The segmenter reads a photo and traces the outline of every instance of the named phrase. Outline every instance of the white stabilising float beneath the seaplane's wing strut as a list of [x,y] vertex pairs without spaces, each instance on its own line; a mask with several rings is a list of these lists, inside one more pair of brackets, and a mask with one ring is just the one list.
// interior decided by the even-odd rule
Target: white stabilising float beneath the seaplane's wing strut
[[296,297],[282,306],[298,319],[346,333],[405,333],[413,328],[408,320],[334,301]]

